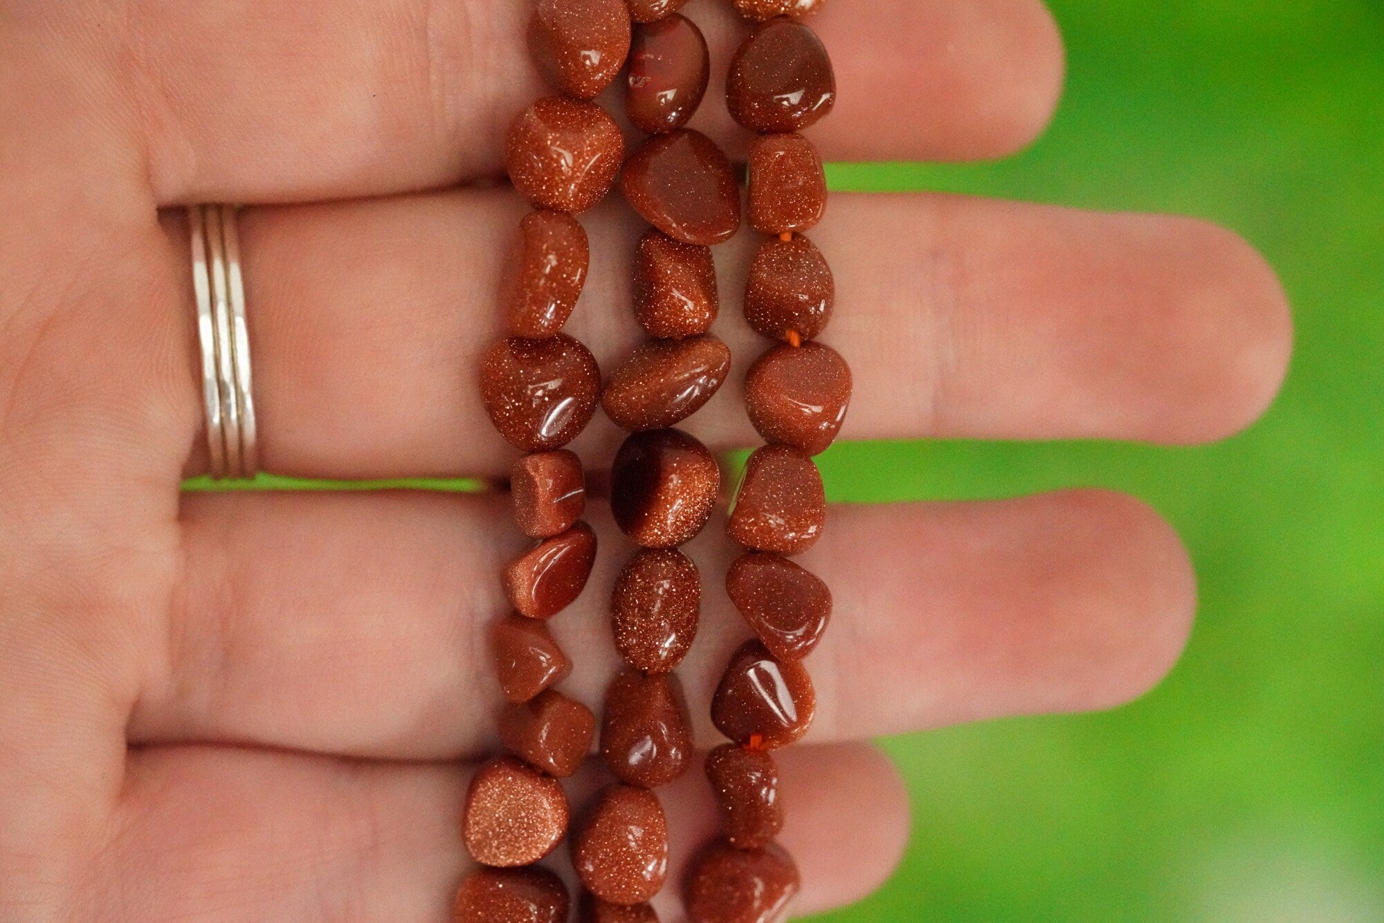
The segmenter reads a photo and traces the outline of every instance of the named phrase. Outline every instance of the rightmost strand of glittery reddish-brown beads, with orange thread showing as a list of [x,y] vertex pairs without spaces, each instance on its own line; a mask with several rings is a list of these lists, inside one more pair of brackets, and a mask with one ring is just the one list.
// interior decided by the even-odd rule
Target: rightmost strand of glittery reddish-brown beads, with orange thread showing
[[734,0],[754,21],[731,62],[727,105],[758,137],[749,155],[749,221],[765,235],[750,267],[745,318],[776,340],[750,368],[746,411],[768,443],[756,450],[731,501],[728,531],[746,551],[727,592],[756,638],[731,661],[711,699],[711,721],[732,743],[713,750],[707,779],[722,836],[693,858],[686,877],[692,923],[778,919],[800,887],[793,858],[774,840],[783,826],[771,750],[807,733],[817,707],[803,660],[832,613],[832,594],[789,560],[811,548],[826,520],[812,457],[840,432],[851,394],[846,361],[815,338],[835,300],[832,271],[804,237],[826,208],[826,177],[799,134],[836,100],[830,60],[799,17],[819,0]]

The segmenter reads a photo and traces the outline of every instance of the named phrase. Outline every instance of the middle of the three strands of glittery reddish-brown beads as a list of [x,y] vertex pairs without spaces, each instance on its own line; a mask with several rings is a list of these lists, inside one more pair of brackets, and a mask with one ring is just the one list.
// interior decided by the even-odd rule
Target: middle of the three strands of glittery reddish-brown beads
[[[706,526],[720,468],[673,429],[700,410],[731,371],[731,350],[710,333],[718,313],[710,246],[736,232],[739,191],[717,145],[684,126],[710,79],[700,29],[678,3],[631,0],[637,19],[626,113],[649,134],[620,177],[653,228],[634,259],[634,314],[652,338],[616,368],[601,405],[631,435],[610,470],[610,506],[639,547],[616,578],[612,631],[626,668],[610,682],[601,756],[617,783],[598,796],[573,834],[587,888],[583,920],[656,923],[648,901],[667,875],[667,825],[653,789],[692,761],[692,721],[674,673],[698,630],[700,576],[678,547]],[[707,195],[707,190],[713,195]]]

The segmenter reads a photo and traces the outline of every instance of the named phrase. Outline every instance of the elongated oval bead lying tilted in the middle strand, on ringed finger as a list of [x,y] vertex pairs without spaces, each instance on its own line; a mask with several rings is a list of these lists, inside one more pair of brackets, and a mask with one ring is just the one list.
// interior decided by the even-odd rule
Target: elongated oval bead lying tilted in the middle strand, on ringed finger
[[667,429],[702,410],[729,374],[731,347],[710,333],[653,340],[614,369],[601,407],[621,429]]

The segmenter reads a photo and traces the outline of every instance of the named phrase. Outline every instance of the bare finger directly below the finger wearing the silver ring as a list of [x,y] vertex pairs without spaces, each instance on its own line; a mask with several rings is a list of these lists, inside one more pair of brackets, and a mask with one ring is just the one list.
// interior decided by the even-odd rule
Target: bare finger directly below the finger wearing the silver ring
[[[151,664],[136,742],[217,740],[382,758],[489,751],[502,704],[487,631],[520,542],[505,502],[426,494],[192,495],[172,646]],[[601,540],[585,592],[549,624],[574,663],[563,691],[599,707],[619,670],[609,599],[631,554]],[[678,668],[699,740],[729,652],[750,635],[722,588],[713,520],[688,552],[702,624]],[[833,508],[801,558],[835,616],[807,666],[810,740],[1124,702],[1172,664],[1194,590],[1176,536],[1107,493],[984,504]]]

